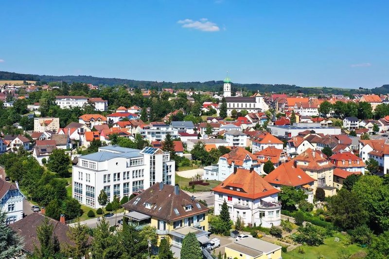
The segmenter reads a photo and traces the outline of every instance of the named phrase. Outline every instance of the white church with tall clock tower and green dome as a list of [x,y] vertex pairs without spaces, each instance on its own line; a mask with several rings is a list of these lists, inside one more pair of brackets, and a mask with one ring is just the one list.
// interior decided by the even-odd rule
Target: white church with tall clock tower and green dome
[[256,93],[250,97],[231,96],[231,79],[226,77],[223,85],[223,96],[227,103],[227,115],[231,116],[231,111],[247,110],[249,113],[263,112],[269,110],[264,97]]

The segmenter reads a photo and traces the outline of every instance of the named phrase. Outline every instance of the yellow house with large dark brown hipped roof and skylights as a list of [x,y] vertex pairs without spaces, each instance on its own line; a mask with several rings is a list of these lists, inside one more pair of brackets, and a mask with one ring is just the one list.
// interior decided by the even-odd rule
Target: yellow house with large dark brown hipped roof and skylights
[[169,238],[171,243],[174,243],[174,235],[171,235],[171,232],[185,227],[191,228],[192,232],[198,230],[204,235],[210,234],[209,208],[180,191],[179,186],[156,183],[128,203],[124,203],[123,207],[127,211],[124,217],[127,217],[136,229],[140,230],[145,226],[157,229],[158,243],[163,238]]

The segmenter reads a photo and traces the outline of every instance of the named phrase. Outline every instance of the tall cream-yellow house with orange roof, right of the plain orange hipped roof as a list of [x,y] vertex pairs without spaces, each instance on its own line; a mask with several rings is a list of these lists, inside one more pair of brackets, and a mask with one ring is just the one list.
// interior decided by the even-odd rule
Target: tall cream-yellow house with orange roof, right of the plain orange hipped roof
[[306,149],[300,155],[296,156],[294,166],[301,168],[307,175],[315,179],[312,187],[314,191],[318,187],[324,189],[326,196],[336,194],[333,184],[335,165],[327,160],[327,156],[319,150]]

